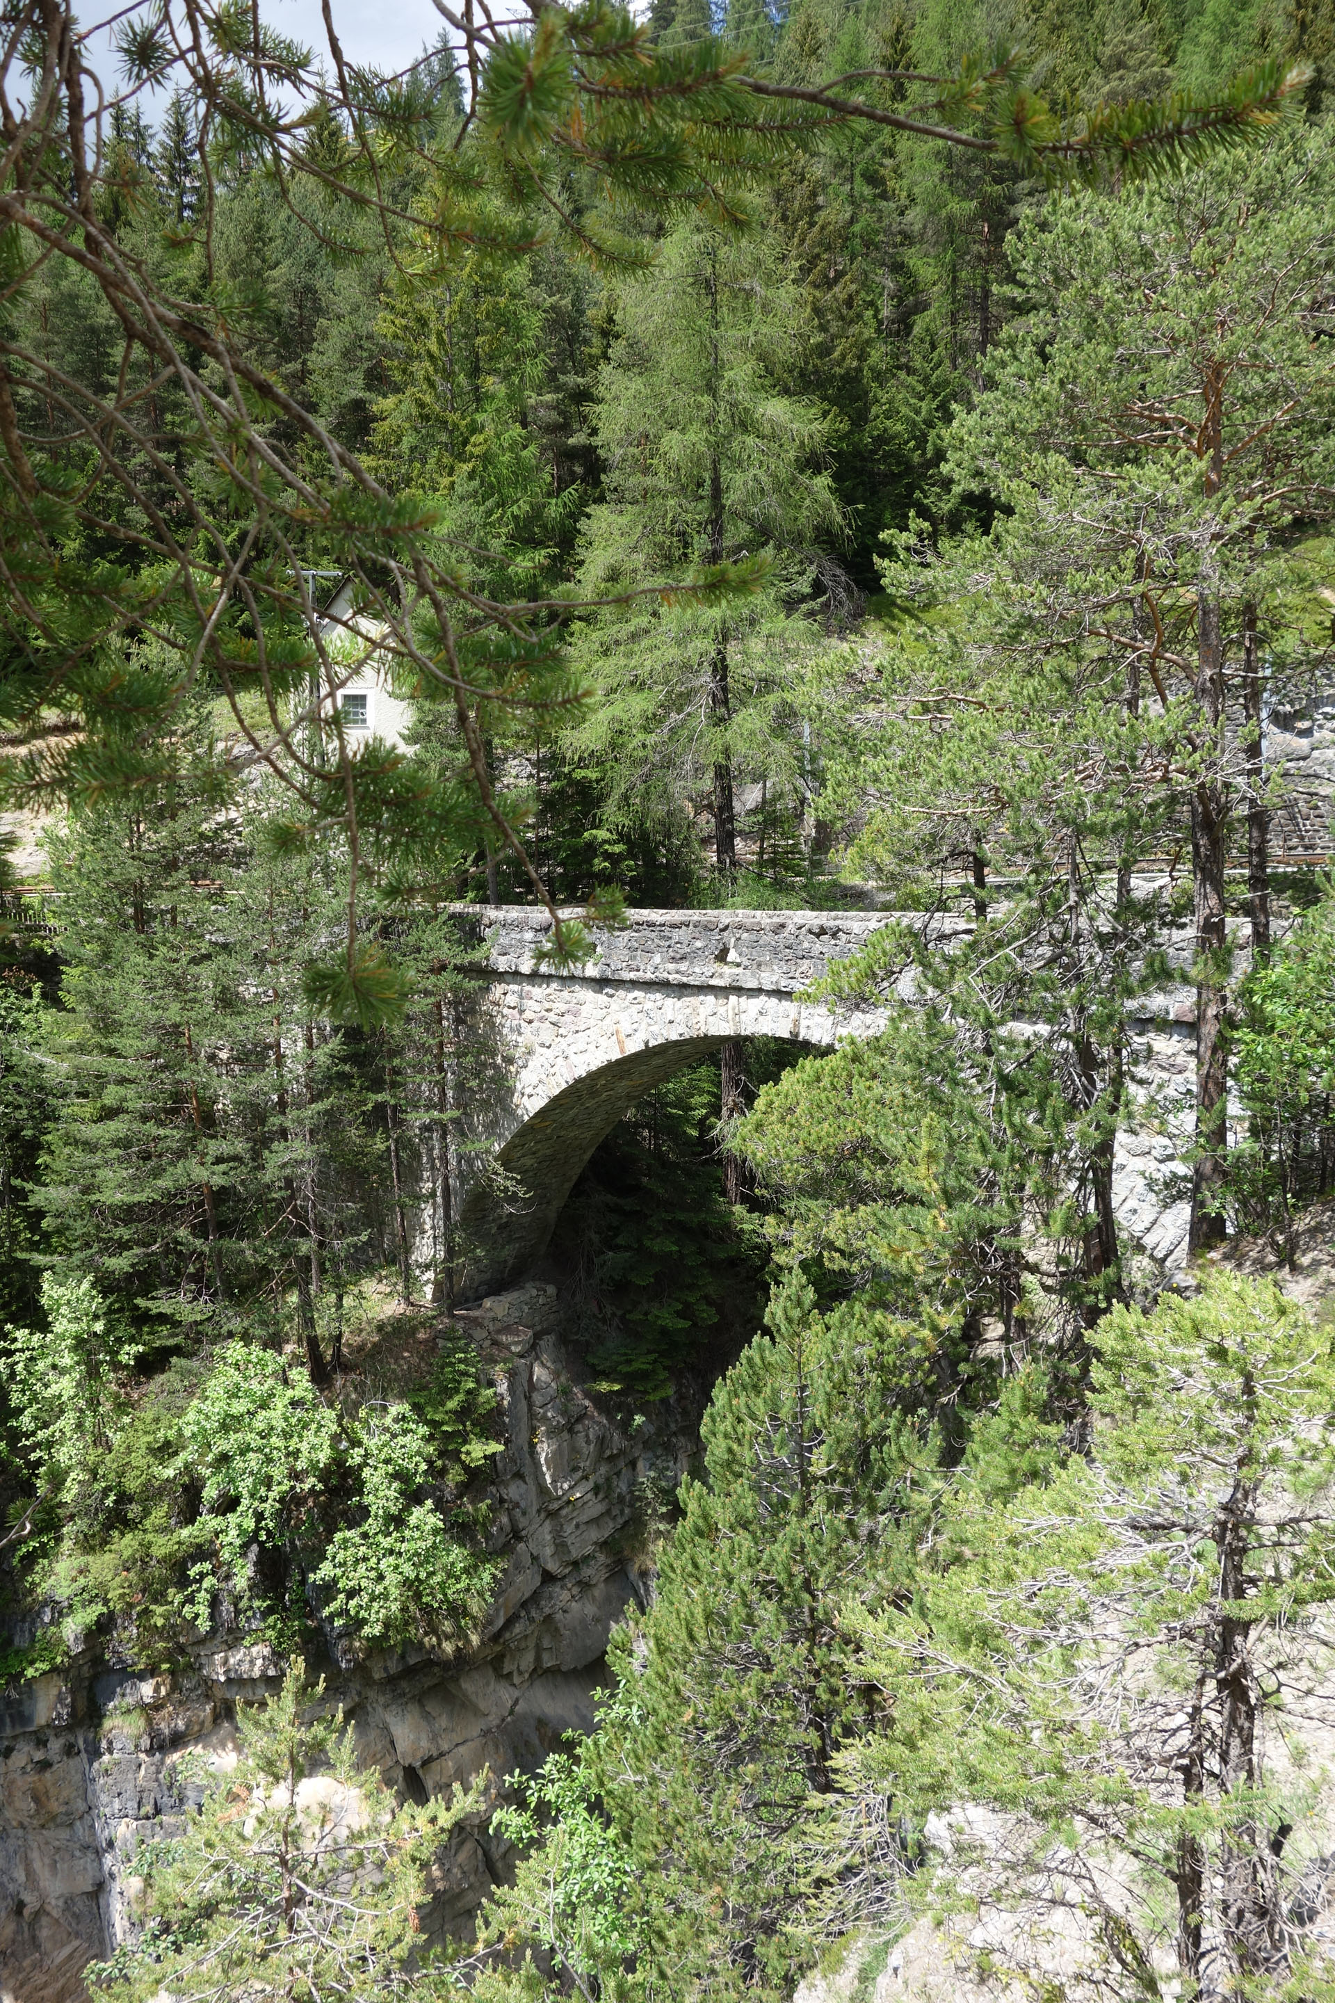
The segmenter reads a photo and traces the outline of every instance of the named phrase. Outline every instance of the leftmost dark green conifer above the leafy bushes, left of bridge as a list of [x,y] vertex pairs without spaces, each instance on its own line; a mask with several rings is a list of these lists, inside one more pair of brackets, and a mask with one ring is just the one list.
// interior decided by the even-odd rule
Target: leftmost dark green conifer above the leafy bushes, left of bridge
[[240,985],[214,943],[230,841],[210,825],[208,777],[180,791],[156,811],[84,817],[50,843],[66,1012],[50,1020],[62,1094],[38,1202],[58,1270],[188,1332],[232,1292],[250,1160],[218,1124]]

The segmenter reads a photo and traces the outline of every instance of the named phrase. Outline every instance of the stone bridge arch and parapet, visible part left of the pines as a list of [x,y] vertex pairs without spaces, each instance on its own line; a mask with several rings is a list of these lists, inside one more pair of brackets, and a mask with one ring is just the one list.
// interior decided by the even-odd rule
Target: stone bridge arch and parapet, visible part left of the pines
[[875,1004],[801,999],[885,925],[877,911],[630,911],[570,969],[536,961],[544,911],[466,905],[462,915],[490,939],[492,1032],[492,1084],[468,1092],[452,1192],[468,1296],[542,1256],[588,1156],[642,1092],[733,1038],[831,1048],[885,1024]]

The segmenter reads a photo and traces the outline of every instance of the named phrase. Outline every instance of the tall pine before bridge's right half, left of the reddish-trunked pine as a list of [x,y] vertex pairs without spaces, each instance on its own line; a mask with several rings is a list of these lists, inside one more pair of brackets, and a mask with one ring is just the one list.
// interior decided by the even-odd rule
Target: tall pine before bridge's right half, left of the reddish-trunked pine
[[[1129,1016],[1171,923],[1137,869],[1161,851],[1173,801],[1135,675],[1109,663],[1101,641],[1035,643],[1051,593],[1019,555],[1031,551],[1027,531],[1003,519],[991,537],[933,557],[921,527],[895,539],[903,555],[885,565],[899,615],[875,651],[849,649],[851,673],[829,675],[833,695],[813,705],[813,725],[825,747],[821,811],[855,829],[845,867],[883,883],[899,909],[951,921],[939,929],[925,915],[889,931],[861,971],[857,959],[839,969],[837,987],[861,981],[891,1002],[887,1092],[893,1080],[897,1104],[917,1098],[909,1132],[945,1118],[987,1136],[981,1188],[1001,1236],[983,1232],[969,1266],[989,1302],[981,1312],[1009,1334],[1025,1266],[1047,1294],[1083,1296],[1087,1316],[1123,1286],[1113,1160],[1135,1074]],[[869,661],[881,667],[875,681]],[[911,1008],[893,987],[905,975]],[[925,1034],[915,1008],[949,1028]],[[949,1114],[933,1070],[939,1038],[953,1046]],[[803,1146],[775,1128],[779,1160],[825,1160],[821,1132]],[[1015,1148],[1019,1134],[1029,1140]],[[1037,1264],[1019,1254],[1027,1212],[1049,1246]],[[1067,1250],[1039,1282],[1055,1240]]]

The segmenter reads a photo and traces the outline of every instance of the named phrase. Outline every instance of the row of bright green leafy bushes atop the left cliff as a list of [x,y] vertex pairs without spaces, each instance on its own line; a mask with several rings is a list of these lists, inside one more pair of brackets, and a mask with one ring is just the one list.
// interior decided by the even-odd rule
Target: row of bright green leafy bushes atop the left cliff
[[308,1624],[308,1582],[364,1640],[456,1640],[496,1566],[478,1552],[482,1508],[454,1500],[496,1452],[496,1404],[460,1336],[420,1394],[350,1418],[282,1356],[236,1342],[212,1370],[176,1360],[134,1384],[90,1280],[46,1280],[50,1328],[10,1330],[0,1368],[16,1410],[30,1530],[24,1596],[54,1606],[10,1677],[54,1666],[104,1618],[136,1652],[170,1660],[208,1628],[218,1590],[236,1612]]

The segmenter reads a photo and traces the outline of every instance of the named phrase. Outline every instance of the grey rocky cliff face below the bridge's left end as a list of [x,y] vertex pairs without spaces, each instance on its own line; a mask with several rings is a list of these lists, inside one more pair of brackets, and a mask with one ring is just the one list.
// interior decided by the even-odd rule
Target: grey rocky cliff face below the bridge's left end
[[[636,1520],[644,1484],[675,1488],[695,1412],[660,1408],[632,1434],[580,1390],[556,1336],[556,1290],[528,1284],[462,1310],[502,1400],[492,1482],[506,1574],[476,1650],[358,1656],[332,1638],[330,1697],[362,1761],[424,1801],[534,1769],[562,1733],[592,1725],[592,1693],[618,1614],[644,1594]],[[198,1801],[182,1755],[226,1767],[238,1701],[268,1695],[268,1642],[214,1634],[172,1677],[88,1654],[0,1699],[0,2003],[68,2003],[78,1969],[134,1927],[142,1849]],[[198,1771],[198,1759],[188,1763]],[[428,1935],[466,1927],[504,1873],[490,1811],[436,1861]]]

